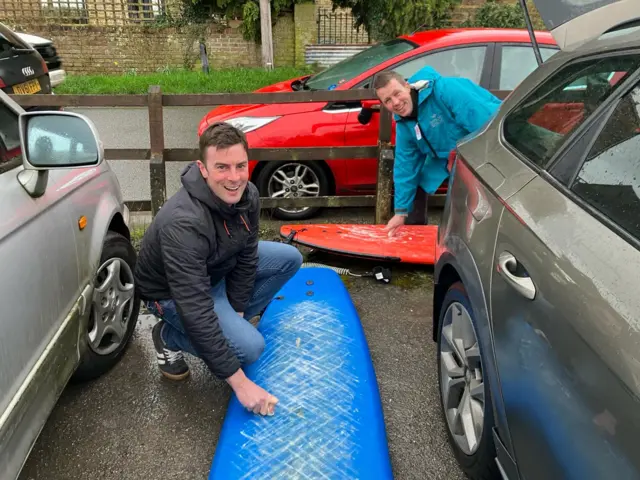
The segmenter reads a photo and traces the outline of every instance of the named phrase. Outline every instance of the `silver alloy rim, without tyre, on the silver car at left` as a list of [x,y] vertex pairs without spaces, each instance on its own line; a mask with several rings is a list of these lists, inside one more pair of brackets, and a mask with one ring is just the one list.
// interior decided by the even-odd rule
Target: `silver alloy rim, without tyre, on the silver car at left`
[[133,273],[127,262],[116,257],[100,266],[89,319],[89,345],[98,355],[109,355],[124,341],[134,293]]

